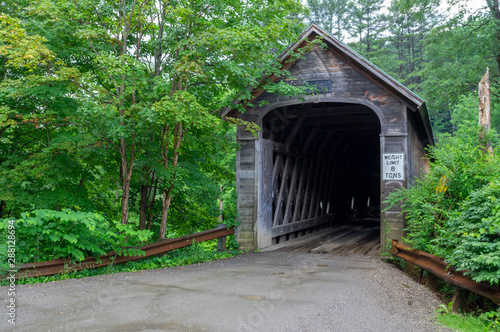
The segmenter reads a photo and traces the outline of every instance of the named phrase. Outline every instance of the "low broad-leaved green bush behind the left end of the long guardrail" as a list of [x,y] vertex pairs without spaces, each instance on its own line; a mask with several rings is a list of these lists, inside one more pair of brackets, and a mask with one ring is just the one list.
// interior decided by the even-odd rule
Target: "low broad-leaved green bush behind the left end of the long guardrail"
[[[4,233],[9,219],[0,219]],[[98,257],[109,251],[123,255],[143,253],[134,248],[148,241],[151,231],[136,231],[134,225],[107,221],[98,213],[63,209],[34,210],[15,220],[16,263],[70,258],[81,261],[86,256]],[[3,236],[6,238],[6,236]],[[7,253],[7,244],[2,254]]]

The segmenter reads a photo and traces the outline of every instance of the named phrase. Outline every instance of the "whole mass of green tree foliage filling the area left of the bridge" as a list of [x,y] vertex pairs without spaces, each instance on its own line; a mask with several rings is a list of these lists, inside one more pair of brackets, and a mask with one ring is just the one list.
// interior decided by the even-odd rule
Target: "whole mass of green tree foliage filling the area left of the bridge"
[[0,218],[98,211],[158,236],[171,206],[168,233],[184,235],[217,226],[222,198],[235,222],[235,129],[219,114],[250,86],[301,91],[261,80],[289,77],[273,59],[302,29],[300,1],[1,6]]

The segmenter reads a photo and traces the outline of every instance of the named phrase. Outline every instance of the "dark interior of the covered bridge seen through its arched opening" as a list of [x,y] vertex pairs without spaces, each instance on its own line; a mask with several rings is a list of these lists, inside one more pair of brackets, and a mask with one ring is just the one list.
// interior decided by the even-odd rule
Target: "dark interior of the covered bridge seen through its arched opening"
[[359,220],[379,227],[381,129],[371,109],[281,107],[264,117],[262,129],[273,141],[273,244]]

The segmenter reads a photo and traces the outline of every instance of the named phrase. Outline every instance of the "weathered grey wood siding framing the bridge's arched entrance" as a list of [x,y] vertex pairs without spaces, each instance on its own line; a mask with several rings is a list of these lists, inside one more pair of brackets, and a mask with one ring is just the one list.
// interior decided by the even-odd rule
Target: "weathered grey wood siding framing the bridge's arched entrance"
[[[248,109],[240,115],[240,118],[262,125],[264,117],[269,112],[287,105],[308,103],[363,105],[370,108],[380,121],[380,154],[394,152],[405,155],[404,181],[381,181],[381,201],[392,190],[406,187],[408,177],[418,176],[417,169],[421,167],[420,157],[423,145],[419,141],[416,130],[409,129],[409,127],[413,128],[411,122],[413,120],[407,118],[409,105],[405,103],[403,98],[399,98],[394,92],[389,92],[390,90],[384,88],[383,84],[375,82],[360,68],[353,68],[349,60],[332,47],[327,50],[319,46],[315,47],[305,55],[305,59],[297,60],[289,70],[295,79],[287,80],[288,83],[299,86],[318,80],[330,81],[331,91],[292,98],[263,92],[252,104],[259,105],[260,102],[265,101],[266,105]],[[409,112],[413,112],[413,110]],[[409,134],[411,135],[410,140],[408,140]],[[268,162],[270,158],[269,142],[262,139],[262,132],[257,138],[252,137],[249,133],[239,132],[238,139],[242,145],[237,159],[238,209],[241,222],[237,233],[238,240],[242,248],[262,248],[269,245],[267,234],[272,222],[266,220],[269,216],[268,203],[269,195],[271,195],[268,185],[269,168],[272,167],[269,166]],[[342,165],[335,165],[338,171],[328,176],[339,181],[339,188],[349,190],[349,184],[342,183],[342,181],[345,179],[344,173],[353,172],[351,166],[344,169],[345,167],[343,168]],[[358,166],[362,168],[362,165]],[[341,196],[341,193],[333,190],[332,195],[337,197]],[[337,203],[339,204],[339,202]],[[262,208],[266,210],[260,210]],[[383,204],[381,208],[384,208]],[[388,228],[386,228],[386,224]],[[258,234],[258,228],[262,230],[260,234]],[[403,235],[403,229],[403,217],[398,209],[382,213],[382,246],[384,246],[386,237],[400,238]]]

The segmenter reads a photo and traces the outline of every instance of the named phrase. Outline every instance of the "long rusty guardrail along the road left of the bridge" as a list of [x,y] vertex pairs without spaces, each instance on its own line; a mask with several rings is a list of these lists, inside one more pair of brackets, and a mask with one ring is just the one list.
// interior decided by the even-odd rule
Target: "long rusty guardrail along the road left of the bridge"
[[138,248],[145,252],[145,255],[141,256],[121,256],[117,255],[115,252],[110,252],[106,255],[99,256],[100,261],[95,257],[86,257],[83,261],[77,263],[63,258],[46,262],[27,263],[18,267],[16,278],[50,276],[62,272],[70,273],[84,269],[103,267],[109,264],[122,264],[162,254],[175,249],[188,247],[193,244],[193,240],[195,243],[198,243],[225,237],[231,234],[234,234],[234,229],[224,226],[204,232],[181,236],[175,239],[163,239]]

